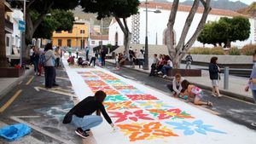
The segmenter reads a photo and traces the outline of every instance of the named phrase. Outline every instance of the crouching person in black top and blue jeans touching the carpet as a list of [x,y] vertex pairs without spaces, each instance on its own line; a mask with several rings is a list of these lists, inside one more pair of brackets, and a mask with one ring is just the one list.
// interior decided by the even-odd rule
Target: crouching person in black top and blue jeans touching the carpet
[[[114,124],[102,104],[105,98],[106,93],[102,90],[97,91],[94,96],[88,96],[67,112],[63,119],[63,124],[73,124],[77,127],[75,133],[82,138],[87,138],[89,136],[88,132],[90,131],[90,128],[102,124],[102,113],[103,117],[108,121],[108,124],[114,129]],[[92,115],[94,112],[96,112],[96,115]]]

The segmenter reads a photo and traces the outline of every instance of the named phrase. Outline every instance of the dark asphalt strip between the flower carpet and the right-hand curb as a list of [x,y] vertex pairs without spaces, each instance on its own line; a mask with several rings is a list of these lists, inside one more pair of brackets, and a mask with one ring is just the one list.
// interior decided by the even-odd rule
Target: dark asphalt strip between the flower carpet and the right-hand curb
[[[131,69],[122,68],[117,71],[112,65],[106,67],[111,72],[119,74],[125,78],[131,78],[136,80],[138,83],[148,85],[154,89],[159,89],[162,92],[169,93],[169,89],[166,89],[166,84],[171,82],[163,78],[148,77],[147,74],[142,72],[133,71]],[[255,127],[251,126],[251,123],[256,122],[256,105],[245,101],[239,101],[230,97],[224,96],[221,99],[208,96],[211,94],[210,91],[204,90],[206,101],[212,101],[214,107],[207,107],[208,109],[218,112],[220,117],[229,119],[236,124],[242,124],[247,126],[249,129],[256,130]]]

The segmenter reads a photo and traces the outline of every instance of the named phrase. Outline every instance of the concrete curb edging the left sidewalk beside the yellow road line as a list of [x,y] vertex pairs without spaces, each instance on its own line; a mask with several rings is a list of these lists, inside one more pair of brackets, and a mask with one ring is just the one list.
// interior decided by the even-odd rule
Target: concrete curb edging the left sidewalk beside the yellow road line
[[[28,71],[28,72],[27,72],[27,71]],[[29,76],[32,72],[33,72],[32,67],[30,67],[29,70],[25,70],[25,73],[24,73],[23,76],[21,76],[20,78],[17,78],[14,83],[12,83],[12,84],[9,85],[8,88],[3,89],[2,91],[0,91],[1,97],[3,97],[4,95],[8,94],[9,91],[11,91],[12,89],[14,89],[15,86],[17,86],[18,84],[20,84],[20,82],[21,82],[24,78],[26,78],[27,76]]]

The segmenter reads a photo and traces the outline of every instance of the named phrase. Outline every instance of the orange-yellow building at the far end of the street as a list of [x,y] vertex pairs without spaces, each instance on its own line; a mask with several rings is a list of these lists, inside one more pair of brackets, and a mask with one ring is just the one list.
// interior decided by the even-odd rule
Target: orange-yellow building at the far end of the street
[[74,22],[72,31],[54,32],[52,42],[55,46],[84,49],[84,47],[88,44],[88,36],[88,22],[84,20],[78,20]]

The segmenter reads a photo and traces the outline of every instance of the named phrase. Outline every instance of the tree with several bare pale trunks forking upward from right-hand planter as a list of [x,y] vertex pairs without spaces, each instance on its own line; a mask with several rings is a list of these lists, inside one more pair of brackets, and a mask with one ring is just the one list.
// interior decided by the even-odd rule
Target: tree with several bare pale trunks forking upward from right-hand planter
[[[173,32],[173,26],[175,24],[175,19],[176,19],[176,15],[177,15],[177,8],[178,8],[179,0],[173,1],[171,14],[170,14],[168,24],[167,24],[167,28],[168,28],[167,32],[168,33],[167,33],[167,37],[166,37],[167,38],[166,42],[167,42],[167,49],[168,49],[169,55],[171,56],[172,61],[175,64],[174,66],[176,68],[178,68],[180,66],[180,62],[183,59],[184,55],[186,55],[186,53],[189,51],[189,49],[195,43],[196,38],[199,36],[201,30],[205,26],[206,21],[207,21],[207,16],[211,11],[210,2],[211,2],[211,0],[195,0],[194,1],[193,6],[190,9],[189,15],[186,19],[185,25],[183,26],[183,32],[181,34],[181,37],[177,43],[177,46],[174,47],[174,45],[172,45],[172,43],[173,43],[172,32]],[[185,39],[189,32],[189,28],[194,19],[196,11],[199,7],[199,3],[202,3],[202,5],[204,7],[204,11],[201,16],[201,20],[200,20],[199,25],[197,26],[193,36],[189,38],[188,42],[185,42]]]

